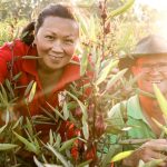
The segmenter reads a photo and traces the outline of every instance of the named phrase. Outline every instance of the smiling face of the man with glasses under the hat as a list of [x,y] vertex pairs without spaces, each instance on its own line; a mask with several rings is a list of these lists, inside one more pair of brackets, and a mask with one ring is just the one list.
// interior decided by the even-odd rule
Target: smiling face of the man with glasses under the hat
[[131,70],[134,76],[140,75],[137,84],[141,90],[154,92],[153,84],[156,84],[163,94],[167,94],[167,55],[138,58]]

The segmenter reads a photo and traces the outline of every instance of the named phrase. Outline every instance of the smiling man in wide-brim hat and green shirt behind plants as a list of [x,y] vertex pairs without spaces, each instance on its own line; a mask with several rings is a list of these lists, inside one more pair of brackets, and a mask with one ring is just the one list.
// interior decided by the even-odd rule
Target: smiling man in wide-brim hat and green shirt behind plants
[[[153,84],[156,84],[167,98],[167,41],[163,37],[150,35],[143,38],[130,57],[120,59],[119,67],[128,67],[135,77],[139,76],[139,89],[154,94]],[[153,118],[161,125],[166,125],[167,120],[156,98],[136,95],[114,106],[108,116],[115,127],[130,127],[127,139],[148,139],[138,149],[131,147],[136,150],[122,160],[121,167],[137,167],[140,160],[148,163],[153,159],[163,159],[157,166],[167,167],[167,140],[159,139],[163,131]]]

